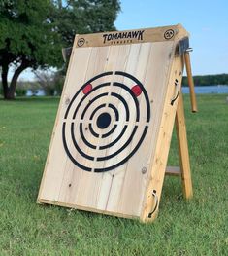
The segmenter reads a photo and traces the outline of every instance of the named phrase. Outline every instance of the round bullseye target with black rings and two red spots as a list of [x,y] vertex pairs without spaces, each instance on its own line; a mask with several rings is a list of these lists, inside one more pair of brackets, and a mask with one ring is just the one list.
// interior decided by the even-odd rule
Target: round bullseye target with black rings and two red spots
[[121,71],[99,74],[68,105],[62,124],[65,152],[83,170],[112,170],[140,148],[150,119],[147,91],[137,78]]

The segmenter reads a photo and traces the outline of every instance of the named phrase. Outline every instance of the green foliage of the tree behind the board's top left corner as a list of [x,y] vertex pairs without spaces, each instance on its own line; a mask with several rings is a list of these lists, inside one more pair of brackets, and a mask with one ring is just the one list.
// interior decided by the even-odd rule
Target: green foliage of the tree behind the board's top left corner
[[120,10],[118,0],[59,0],[55,6],[51,18],[67,47],[73,44],[76,34],[114,30]]

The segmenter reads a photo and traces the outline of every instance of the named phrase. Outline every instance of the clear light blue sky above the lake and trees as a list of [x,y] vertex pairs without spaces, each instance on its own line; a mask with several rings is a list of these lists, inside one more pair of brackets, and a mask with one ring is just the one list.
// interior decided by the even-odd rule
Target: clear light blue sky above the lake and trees
[[[228,73],[228,0],[120,0],[117,30],[181,23],[190,33],[193,75]],[[24,71],[20,79],[32,79]]]

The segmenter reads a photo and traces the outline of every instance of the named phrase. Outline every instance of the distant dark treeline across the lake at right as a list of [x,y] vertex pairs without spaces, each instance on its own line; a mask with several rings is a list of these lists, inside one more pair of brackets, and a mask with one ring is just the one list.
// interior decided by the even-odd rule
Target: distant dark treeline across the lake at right
[[[194,76],[195,86],[228,85],[228,74]],[[182,86],[187,86],[187,78],[183,77]]]

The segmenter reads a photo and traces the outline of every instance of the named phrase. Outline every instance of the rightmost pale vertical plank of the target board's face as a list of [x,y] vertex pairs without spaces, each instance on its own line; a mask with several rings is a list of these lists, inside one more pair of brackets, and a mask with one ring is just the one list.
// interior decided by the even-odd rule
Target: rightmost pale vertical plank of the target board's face
[[[145,61],[147,66],[144,67],[142,63],[139,63],[138,69],[135,71],[137,77],[142,79],[142,82],[147,88],[151,109],[151,122],[148,128],[147,140],[142,144],[140,148],[141,150],[135,155],[135,158],[128,163],[128,168],[122,185],[121,198],[118,204],[118,209],[124,212],[134,212],[135,214],[140,215],[142,211],[147,184],[148,165],[154,155],[155,148],[153,146],[159,130],[158,124],[161,119],[161,109],[164,104],[167,90],[166,77],[171,65],[171,58],[169,55],[173,45],[174,42],[151,44],[150,52],[145,54],[148,55],[148,62]],[[142,59],[145,58],[146,57]],[[143,100],[141,100],[140,103],[143,104]],[[145,113],[144,109],[146,109],[146,106],[142,105],[141,113]],[[147,154],[145,154],[146,152]],[[145,174],[142,172],[143,168],[147,169]],[[138,208],[134,207],[135,204],[138,204]]]

